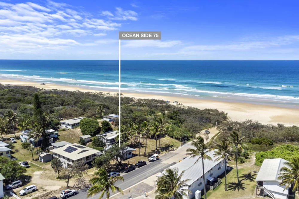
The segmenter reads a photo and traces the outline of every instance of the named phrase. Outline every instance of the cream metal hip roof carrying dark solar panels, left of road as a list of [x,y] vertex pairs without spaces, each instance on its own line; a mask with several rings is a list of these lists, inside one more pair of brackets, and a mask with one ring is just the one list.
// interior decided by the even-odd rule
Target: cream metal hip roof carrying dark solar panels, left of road
[[[68,148],[69,146],[71,147],[74,147],[75,149],[77,149],[76,151],[72,151],[72,152],[67,152],[67,151],[64,151],[66,148]],[[59,154],[59,155],[62,155],[64,157],[67,157],[71,160],[78,160],[80,158],[83,158],[83,157],[86,157],[86,156],[89,156],[89,155],[92,155],[92,154],[103,154],[101,151],[98,151],[98,150],[95,150],[95,149],[92,149],[92,148],[89,148],[87,146],[83,146],[84,148],[81,149],[77,146],[83,146],[83,145],[80,145],[80,144],[67,144],[65,146],[62,146],[58,149],[52,149],[50,151],[52,151],[53,153],[56,153],[56,154]]]

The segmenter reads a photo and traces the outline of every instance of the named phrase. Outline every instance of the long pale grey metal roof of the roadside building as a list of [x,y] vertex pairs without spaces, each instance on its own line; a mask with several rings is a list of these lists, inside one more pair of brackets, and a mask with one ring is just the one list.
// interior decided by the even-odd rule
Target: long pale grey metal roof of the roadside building
[[[207,155],[210,156],[212,158],[212,160],[207,160],[207,159],[204,160],[205,173],[207,173],[210,169],[212,169],[218,163],[221,164],[219,166],[222,166],[223,159],[214,162],[218,158],[218,157],[214,157],[214,151],[209,151],[207,153]],[[198,159],[198,157],[191,158],[191,156],[189,156],[189,157],[185,158],[184,160],[182,160],[181,162],[176,163],[173,166],[170,166],[169,168],[170,169],[178,169],[179,174],[181,174],[182,171],[185,171],[181,180],[189,179],[189,181],[187,181],[186,184],[191,185],[193,182],[195,182],[197,179],[199,179],[203,175],[202,160],[200,159],[197,163],[195,163],[197,159]]]

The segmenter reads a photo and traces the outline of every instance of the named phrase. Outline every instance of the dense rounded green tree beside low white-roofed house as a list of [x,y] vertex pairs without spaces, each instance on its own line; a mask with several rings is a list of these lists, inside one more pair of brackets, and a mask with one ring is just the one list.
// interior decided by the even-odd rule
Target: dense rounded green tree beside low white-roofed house
[[100,126],[97,120],[83,118],[80,120],[80,129],[83,135],[91,135],[92,137],[100,133]]

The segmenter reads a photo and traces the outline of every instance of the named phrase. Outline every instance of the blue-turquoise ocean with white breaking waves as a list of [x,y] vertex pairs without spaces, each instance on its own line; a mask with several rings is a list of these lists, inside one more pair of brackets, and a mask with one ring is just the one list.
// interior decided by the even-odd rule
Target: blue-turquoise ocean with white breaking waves
[[[0,79],[118,91],[118,60],[0,60]],[[299,61],[121,61],[121,91],[297,107]]]

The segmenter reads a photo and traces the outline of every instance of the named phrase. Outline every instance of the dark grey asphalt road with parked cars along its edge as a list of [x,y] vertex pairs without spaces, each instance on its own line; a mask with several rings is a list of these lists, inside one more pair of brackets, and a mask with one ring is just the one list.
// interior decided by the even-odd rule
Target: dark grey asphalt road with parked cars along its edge
[[[147,165],[142,166],[141,168],[136,168],[135,170],[122,175],[124,182],[118,181],[115,183],[115,186],[118,186],[120,189],[124,190],[127,189],[136,183],[141,182],[142,180],[147,179],[148,177],[157,174],[158,172],[167,169],[168,167],[175,164],[175,162],[171,164],[164,163],[163,160],[168,160],[171,158],[175,153],[169,152],[161,156],[160,159],[156,160],[155,162],[147,162]],[[79,190],[78,194],[75,196],[71,196],[70,199],[82,199],[86,198],[87,190]],[[110,193],[110,195],[114,195],[114,193]],[[89,197],[89,199],[97,199],[99,198],[100,193],[94,195],[93,197]]]

